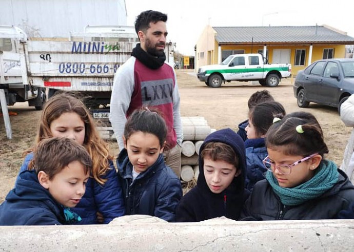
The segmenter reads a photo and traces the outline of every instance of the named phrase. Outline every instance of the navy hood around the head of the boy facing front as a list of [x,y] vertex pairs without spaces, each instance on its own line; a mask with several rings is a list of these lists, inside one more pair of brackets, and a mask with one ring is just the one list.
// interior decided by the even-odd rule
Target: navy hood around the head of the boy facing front
[[[237,167],[237,169],[241,170],[241,174],[232,180],[229,188],[232,188],[233,191],[232,193],[238,193],[238,194],[243,193],[245,187],[247,164],[246,164],[245,143],[242,140],[242,138],[229,128],[215,131],[209,134],[205,138],[199,153],[202,153],[203,149],[205,148],[205,144],[208,142],[222,142],[230,145],[232,149],[235,151],[236,155],[239,158],[239,167]],[[199,156],[199,177],[196,186],[200,187],[203,191],[207,190],[211,193],[205,181],[203,166],[204,166],[204,160],[201,156]]]

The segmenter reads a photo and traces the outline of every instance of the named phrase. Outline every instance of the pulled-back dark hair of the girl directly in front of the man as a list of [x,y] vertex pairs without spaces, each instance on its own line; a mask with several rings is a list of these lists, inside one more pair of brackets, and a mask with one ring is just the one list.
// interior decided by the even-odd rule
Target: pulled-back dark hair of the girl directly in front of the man
[[164,118],[153,109],[135,110],[127,119],[124,127],[126,140],[135,133],[141,131],[150,133],[159,138],[160,146],[164,145],[167,136],[167,126]]

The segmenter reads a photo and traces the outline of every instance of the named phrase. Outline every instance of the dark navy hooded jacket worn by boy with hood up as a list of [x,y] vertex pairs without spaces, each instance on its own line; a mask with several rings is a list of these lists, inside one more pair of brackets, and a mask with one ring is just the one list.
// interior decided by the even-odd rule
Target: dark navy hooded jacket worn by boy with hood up
[[215,217],[225,216],[237,220],[242,205],[249,192],[245,190],[246,156],[245,144],[242,138],[231,129],[216,131],[204,140],[200,152],[208,142],[223,142],[232,146],[239,158],[241,174],[235,177],[226,190],[220,194],[210,191],[204,176],[204,160],[199,157],[199,177],[196,186],[181,200],[176,210],[176,221],[198,222]]

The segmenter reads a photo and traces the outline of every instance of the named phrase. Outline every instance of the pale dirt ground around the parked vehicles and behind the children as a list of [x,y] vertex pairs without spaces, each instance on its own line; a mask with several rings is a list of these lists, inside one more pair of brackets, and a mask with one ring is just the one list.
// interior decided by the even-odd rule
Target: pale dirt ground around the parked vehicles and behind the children
[[[336,108],[310,104],[307,109],[297,106],[293,96],[292,79],[282,80],[276,88],[265,88],[258,82],[231,82],[213,89],[200,82],[191,70],[177,70],[181,94],[182,116],[203,116],[211,128],[231,128],[237,130],[239,122],[247,119],[247,100],[257,90],[267,89],[274,99],[281,102],[287,113],[307,111],[313,113],[322,125],[325,141],[329,148],[327,158],[341,164],[343,152],[351,128],[345,127]],[[7,139],[4,119],[0,117],[0,202],[13,187],[15,177],[22,163],[22,153],[33,143],[41,111],[28,107],[27,103],[17,103],[9,107],[12,140]],[[116,156],[117,144],[110,141],[111,154]]]

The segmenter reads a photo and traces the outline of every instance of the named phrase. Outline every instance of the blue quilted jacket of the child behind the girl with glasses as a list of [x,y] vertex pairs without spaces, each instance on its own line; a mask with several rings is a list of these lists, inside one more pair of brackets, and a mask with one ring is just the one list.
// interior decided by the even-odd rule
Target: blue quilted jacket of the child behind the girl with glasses
[[264,138],[247,139],[245,146],[247,161],[245,188],[252,191],[254,184],[265,178],[263,174],[267,169],[262,161],[268,155],[268,152]]

